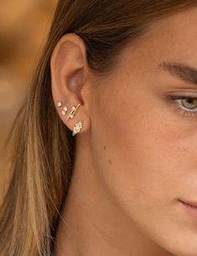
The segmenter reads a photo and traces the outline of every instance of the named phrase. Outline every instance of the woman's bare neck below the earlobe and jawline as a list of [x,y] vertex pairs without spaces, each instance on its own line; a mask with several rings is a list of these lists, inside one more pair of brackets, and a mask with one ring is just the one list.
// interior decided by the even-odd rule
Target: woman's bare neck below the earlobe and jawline
[[[81,149],[81,150],[80,150]],[[118,205],[81,143],[62,208],[55,256],[169,256]],[[78,154],[79,153],[79,154]]]

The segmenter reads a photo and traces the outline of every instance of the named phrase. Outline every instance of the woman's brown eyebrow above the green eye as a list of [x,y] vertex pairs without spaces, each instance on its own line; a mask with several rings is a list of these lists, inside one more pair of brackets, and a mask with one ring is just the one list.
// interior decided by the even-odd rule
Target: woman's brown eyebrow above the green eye
[[178,76],[180,79],[197,86],[197,69],[194,67],[176,62],[163,62],[158,67],[164,71],[168,71],[173,76]]

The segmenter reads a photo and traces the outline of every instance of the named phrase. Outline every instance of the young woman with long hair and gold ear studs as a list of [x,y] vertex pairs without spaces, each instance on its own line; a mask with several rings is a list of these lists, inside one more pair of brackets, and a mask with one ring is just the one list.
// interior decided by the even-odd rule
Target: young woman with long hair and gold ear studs
[[196,45],[196,1],[59,1],[7,141],[1,255],[197,254]]

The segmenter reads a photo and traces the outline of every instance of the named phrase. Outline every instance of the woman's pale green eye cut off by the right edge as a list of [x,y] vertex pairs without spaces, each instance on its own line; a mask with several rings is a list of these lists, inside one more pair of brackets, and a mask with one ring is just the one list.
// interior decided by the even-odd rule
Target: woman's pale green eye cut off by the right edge
[[190,96],[169,96],[176,104],[176,110],[187,116],[197,115],[197,97]]

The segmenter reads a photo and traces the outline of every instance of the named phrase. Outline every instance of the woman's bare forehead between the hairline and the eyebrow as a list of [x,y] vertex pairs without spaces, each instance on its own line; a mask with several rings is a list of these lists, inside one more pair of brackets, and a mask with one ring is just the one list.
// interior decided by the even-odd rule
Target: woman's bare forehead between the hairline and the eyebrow
[[197,7],[153,22],[148,33],[127,49],[123,60],[130,66],[131,60],[137,61],[146,68],[169,60],[197,68]]

